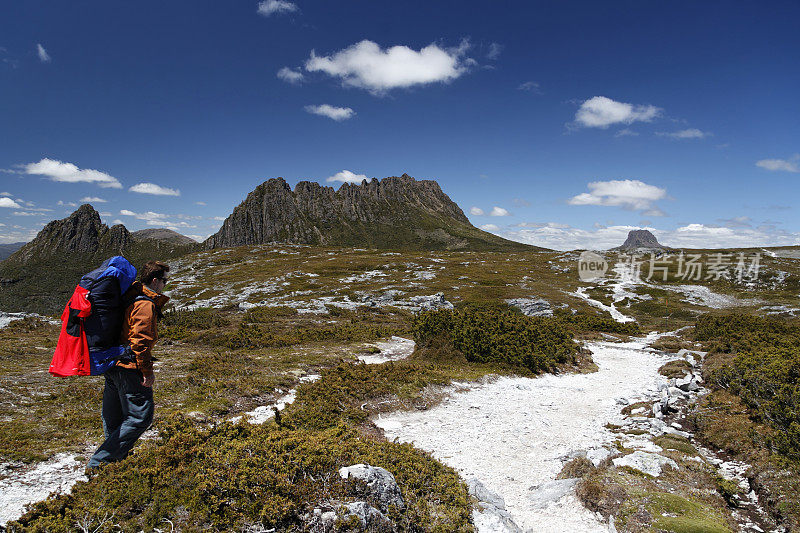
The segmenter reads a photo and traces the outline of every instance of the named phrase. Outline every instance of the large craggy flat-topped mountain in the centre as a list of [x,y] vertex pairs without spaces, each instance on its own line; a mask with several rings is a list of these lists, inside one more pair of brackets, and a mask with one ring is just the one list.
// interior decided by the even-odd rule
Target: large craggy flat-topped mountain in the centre
[[338,190],[272,178],[247,195],[206,248],[266,243],[417,249],[531,249],[481,231],[431,180],[407,174]]

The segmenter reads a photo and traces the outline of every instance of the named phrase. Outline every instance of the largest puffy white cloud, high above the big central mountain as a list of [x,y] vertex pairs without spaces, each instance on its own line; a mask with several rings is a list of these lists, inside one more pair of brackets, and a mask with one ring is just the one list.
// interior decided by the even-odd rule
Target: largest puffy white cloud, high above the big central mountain
[[318,56],[312,50],[305,68],[341,78],[345,86],[383,94],[390,89],[448,83],[460,77],[475,63],[465,56],[468,49],[469,43],[462,41],[449,49],[430,44],[420,51],[407,46],[383,50],[377,43],[364,40],[330,56]]

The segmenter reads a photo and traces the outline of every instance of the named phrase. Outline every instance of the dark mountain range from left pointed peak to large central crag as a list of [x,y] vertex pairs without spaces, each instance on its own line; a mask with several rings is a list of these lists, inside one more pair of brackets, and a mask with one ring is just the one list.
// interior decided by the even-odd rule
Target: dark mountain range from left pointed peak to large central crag
[[403,174],[338,190],[283,178],[255,188],[202,245],[168,229],[131,233],[108,227],[85,204],[48,223],[31,242],[0,262],[0,310],[54,314],[81,275],[112,255],[134,266],[168,260],[203,248],[293,243],[402,250],[543,250],[509,241],[470,224],[432,180]]

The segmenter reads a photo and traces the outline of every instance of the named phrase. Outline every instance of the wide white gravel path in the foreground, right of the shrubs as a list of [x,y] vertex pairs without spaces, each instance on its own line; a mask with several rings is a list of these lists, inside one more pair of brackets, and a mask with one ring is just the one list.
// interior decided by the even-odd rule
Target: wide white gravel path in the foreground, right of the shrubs
[[[571,453],[612,442],[605,426],[621,420],[623,405],[658,394],[658,368],[668,358],[647,349],[655,338],[590,343],[596,373],[502,377],[454,392],[428,411],[392,413],[375,423],[389,440],[413,442],[464,479],[477,478],[505,499],[525,531],[608,531],[572,491],[542,505],[537,487],[554,480]],[[478,531],[505,531],[488,518],[476,513]]]

